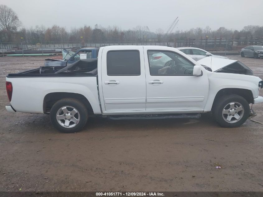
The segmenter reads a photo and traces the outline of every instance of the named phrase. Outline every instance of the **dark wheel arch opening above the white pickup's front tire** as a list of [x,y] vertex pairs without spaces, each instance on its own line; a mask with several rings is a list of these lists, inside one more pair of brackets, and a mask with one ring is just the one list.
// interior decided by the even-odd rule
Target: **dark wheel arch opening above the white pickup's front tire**
[[[237,94],[239,96],[242,96],[244,99],[247,100],[248,103],[254,102],[253,95],[252,95],[252,92],[250,90],[241,89],[241,88],[225,88],[225,89],[218,91],[218,93],[216,94],[216,96],[214,98],[214,103],[215,103],[216,99],[220,98],[221,96],[230,95],[230,94]],[[214,103],[213,103],[213,106],[214,106]]]

